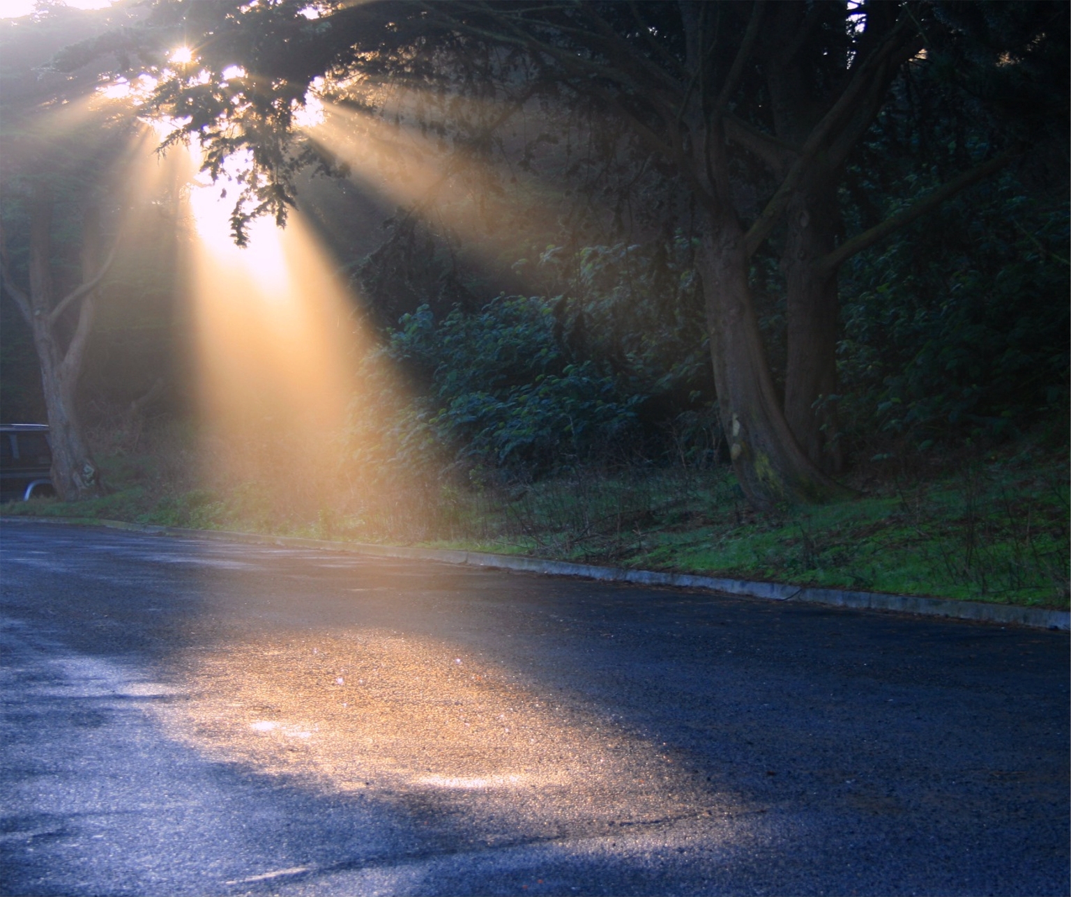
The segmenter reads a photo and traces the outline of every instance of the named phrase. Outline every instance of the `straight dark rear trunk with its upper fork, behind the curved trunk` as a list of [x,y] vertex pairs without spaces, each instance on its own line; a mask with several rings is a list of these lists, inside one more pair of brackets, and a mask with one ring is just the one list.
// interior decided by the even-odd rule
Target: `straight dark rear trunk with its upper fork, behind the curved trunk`
[[[832,7],[829,7],[832,10]],[[823,11],[802,2],[781,2],[770,11],[771,41],[761,61],[769,91],[773,132],[785,147],[803,147],[823,121],[851,90],[856,74],[861,88],[840,119],[816,145],[803,176],[785,207],[786,343],[785,417],[800,447],[826,473],[844,468],[836,405],[836,336],[839,332],[838,270],[828,260],[841,237],[838,185],[851,148],[873,122],[900,64],[915,51],[916,37],[897,32],[900,7],[894,3],[866,7],[866,31],[859,56],[839,63],[843,72],[827,73],[819,85],[819,60],[804,52],[808,33],[820,30]],[[836,12],[838,17],[845,15]],[[842,24],[838,18],[838,22]],[[836,52],[831,45],[829,52]],[[869,62],[874,62],[869,66]],[[861,77],[865,74],[865,77]],[[776,155],[776,154],[773,154]],[[789,156],[771,166],[784,178]]]

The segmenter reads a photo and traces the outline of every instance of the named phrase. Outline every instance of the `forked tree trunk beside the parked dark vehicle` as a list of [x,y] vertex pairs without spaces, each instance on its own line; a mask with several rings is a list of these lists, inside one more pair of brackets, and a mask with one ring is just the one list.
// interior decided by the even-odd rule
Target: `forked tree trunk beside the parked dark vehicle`
[[90,207],[82,223],[82,282],[56,302],[49,269],[51,217],[52,197],[47,188],[39,186],[30,209],[29,292],[14,283],[6,254],[3,258],[3,282],[33,333],[48,412],[52,485],[63,501],[75,501],[101,492],[96,462],[78,420],[75,393],[96,310],[96,285],[110,264],[115,250],[102,263],[100,214],[94,207]]

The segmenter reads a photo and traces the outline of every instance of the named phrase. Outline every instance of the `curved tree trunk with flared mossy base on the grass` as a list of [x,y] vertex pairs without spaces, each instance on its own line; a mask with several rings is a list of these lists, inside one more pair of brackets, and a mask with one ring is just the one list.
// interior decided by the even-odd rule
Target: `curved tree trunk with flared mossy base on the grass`
[[741,489],[756,507],[847,495],[800,451],[766,362],[748,286],[743,232],[708,215],[698,257],[719,413]]

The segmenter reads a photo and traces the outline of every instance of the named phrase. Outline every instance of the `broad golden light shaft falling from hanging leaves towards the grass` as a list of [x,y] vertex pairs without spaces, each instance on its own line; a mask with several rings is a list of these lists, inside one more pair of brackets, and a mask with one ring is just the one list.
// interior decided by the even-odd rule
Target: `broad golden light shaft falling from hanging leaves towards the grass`
[[377,360],[337,262],[300,212],[285,229],[255,221],[248,244],[236,246],[226,186],[195,183],[187,203],[184,289],[206,484],[238,496],[245,519],[293,526],[405,507],[422,526],[414,477],[391,467],[384,442],[386,420],[408,399]]

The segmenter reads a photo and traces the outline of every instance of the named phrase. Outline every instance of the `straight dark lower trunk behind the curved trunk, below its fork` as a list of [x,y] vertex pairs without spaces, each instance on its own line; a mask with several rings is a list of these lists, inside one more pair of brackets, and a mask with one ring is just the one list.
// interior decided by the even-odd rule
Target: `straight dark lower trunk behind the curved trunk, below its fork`
[[781,268],[785,275],[785,419],[800,448],[826,473],[844,467],[836,424],[836,270],[819,261],[836,247],[836,179],[816,172],[786,210]]

